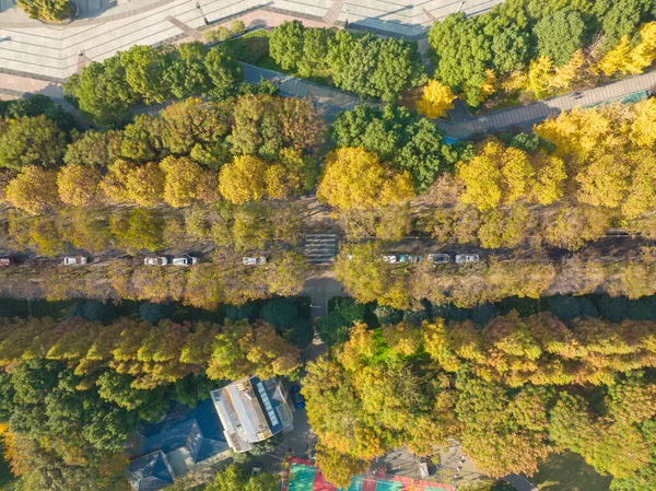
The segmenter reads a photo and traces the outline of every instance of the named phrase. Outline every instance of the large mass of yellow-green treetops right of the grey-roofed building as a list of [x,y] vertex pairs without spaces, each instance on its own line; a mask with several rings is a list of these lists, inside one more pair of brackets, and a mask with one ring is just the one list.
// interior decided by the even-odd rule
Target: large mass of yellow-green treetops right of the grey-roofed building
[[[421,327],[355,323],[304,381],[317,465],[347,486],[368,461],[456,437],[490,476],[528,475],[552,452],[581,454],[611,489],[654,486],[653,322],[567,326],[550,314]],[[584,390],[585,387],[585,390]]]

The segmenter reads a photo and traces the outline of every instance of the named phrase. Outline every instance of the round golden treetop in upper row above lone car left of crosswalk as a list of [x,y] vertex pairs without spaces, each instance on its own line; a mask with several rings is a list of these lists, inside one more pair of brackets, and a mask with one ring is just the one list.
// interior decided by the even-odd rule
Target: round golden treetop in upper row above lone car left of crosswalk
[[234,204],[257,201],[267,195],[267,164],[261,159],[238,155],[221,167],[219,191]]

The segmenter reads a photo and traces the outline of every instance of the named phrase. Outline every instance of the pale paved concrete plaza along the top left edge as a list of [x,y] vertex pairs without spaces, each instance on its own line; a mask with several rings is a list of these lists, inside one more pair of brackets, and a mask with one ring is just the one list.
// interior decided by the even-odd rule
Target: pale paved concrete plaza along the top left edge
[[329,25],[324,17],[333,4],[329,23],[418,38],[434,20],[458,10],[478,14],[499,1],[74,0],[80,16],[55,26],[28,19],[14,0],[0,0],[0,72],[62,82],[89,60],[102,61],[133,45],[172,43],[203,31],[206,19],[211,26],[242,17],[247,25],[277,25],[291,17]]

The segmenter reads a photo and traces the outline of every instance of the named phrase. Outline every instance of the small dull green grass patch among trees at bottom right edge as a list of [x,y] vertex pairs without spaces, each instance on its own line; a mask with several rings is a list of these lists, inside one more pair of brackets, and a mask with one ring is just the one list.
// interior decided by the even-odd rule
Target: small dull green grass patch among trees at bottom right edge
[[607,491],[612,478],[599,475],[583,457],[551,454],[531,481],[542,491]]

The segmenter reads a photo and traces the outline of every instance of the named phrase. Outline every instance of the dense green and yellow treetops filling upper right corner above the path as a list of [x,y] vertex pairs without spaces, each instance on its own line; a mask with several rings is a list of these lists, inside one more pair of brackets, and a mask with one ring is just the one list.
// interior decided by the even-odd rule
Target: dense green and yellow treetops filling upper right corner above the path
[[484,14],[448,15],[431,28],[435,78],[470,106],[492,94],[544,97],[640,73],[656,59],[653,0],[506,0]]

